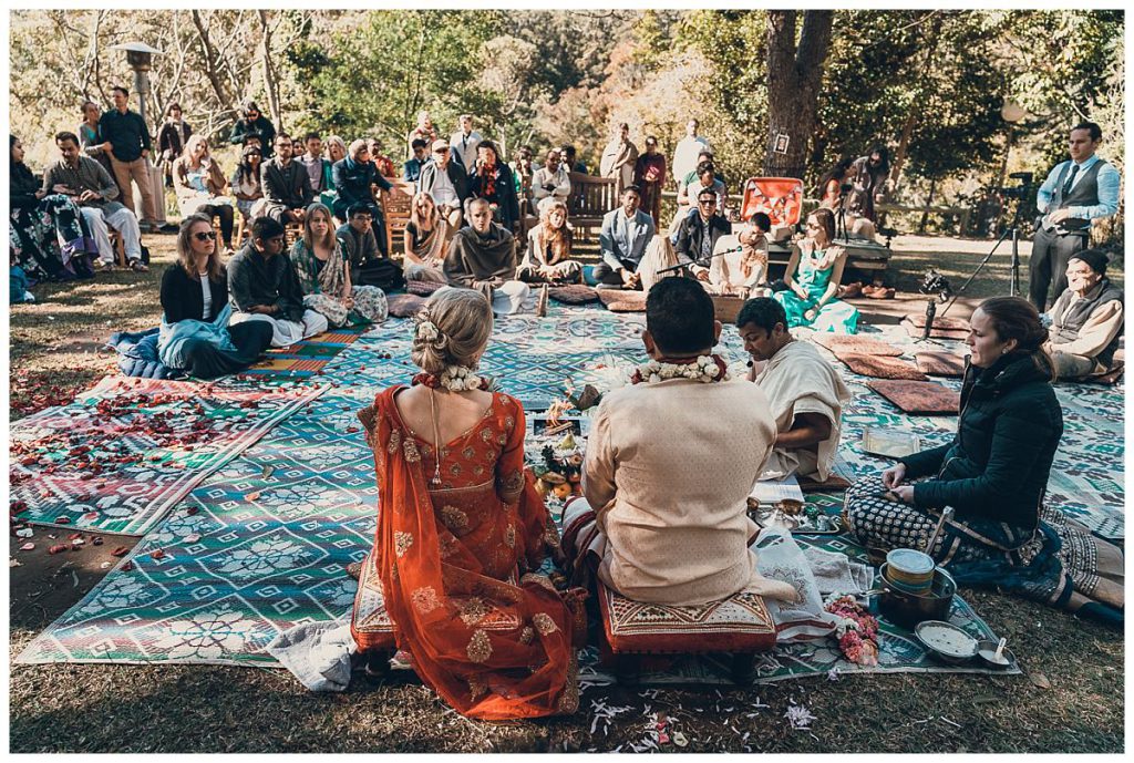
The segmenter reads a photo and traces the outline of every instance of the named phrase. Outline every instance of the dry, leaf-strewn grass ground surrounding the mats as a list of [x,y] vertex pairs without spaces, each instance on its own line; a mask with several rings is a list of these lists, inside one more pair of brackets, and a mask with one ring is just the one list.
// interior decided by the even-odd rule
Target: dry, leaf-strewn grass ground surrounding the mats
[[[68,390],[88,385],[113,367],[111,358],[94,354],[111,327],[138,330],[158,322],[158,282],[172,260],[174,239],[151,238],[156,266],[150,274],[46,286],[36,289],[37,304],[12,307],[10,379],[17,388],[32,387],[14,405],[41,393],[40,383]],[[903,237],[894,243],[900,254],[891,277],[907,295],[929,265],[959,285],[988,247],[985,241]],[[990,264],[966,293],[971,299],[955,308],[958,315],[967,315],[980,297],[1006,293],[1007,255]],[[923,304],[912,295],[895,303],[858,303],[877,311],[877,320],[895,320]],[[112,544],[58,557],[9,548],[10,560],[19,562],[9,570],[15,659],[98,583]],[[1124,749],[1122,633],[995,592],[965,595],[1008,638],[1024,676],[811,678],[719,694],[641,695],[595,687],[584,693],[572,718],[480,723],[446,709],[404,672],[386,684],[359,676],[346,694],[315,695],[278,670],[32,665],[11,669],[10,752],[611,751],[641,744],[659,711],[688,737],[686,752],[742,752],[745,746],[797,753]],[[628,709],[609,727],[600,721],[592,734],[596,700]],[[784,718],[790,704],[806,705],[818,718],[810,731],[790,729]]]

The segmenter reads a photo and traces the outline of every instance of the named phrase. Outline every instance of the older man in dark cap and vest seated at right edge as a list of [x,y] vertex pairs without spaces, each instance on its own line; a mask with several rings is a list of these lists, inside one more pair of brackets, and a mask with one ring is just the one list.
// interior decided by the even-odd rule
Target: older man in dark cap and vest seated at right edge
[[1107,278],[1107,255],[1083,249],[1067,261],[1067,290],[1048,311],[1044,349],[1059,379],[1110,370],[1123,333],[1123,290]]

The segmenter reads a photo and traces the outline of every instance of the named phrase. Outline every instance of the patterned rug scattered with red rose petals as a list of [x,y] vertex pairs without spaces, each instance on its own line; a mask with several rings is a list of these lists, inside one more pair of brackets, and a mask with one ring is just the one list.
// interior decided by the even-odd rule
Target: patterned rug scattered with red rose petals
[[107,376],[11,426],[11,497],[35,524],[142,534],[325,388]]

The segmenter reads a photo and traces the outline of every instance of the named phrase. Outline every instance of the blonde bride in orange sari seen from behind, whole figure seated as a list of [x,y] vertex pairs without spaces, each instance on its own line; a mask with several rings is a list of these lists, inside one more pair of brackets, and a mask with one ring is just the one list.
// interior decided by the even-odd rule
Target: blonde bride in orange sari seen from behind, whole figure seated
[[[491,333],[479,291],[438,290],[415,317],[423,373],[359,414],[379,488],[363,585],[380,580],[397,647],[460,713],[572,713],[573,610],[534,571],[558,534],[524,472],[524,409],[475,373]],[[352,622],[359,652],[387,651],[388,630],[361,627],[363,597]]]

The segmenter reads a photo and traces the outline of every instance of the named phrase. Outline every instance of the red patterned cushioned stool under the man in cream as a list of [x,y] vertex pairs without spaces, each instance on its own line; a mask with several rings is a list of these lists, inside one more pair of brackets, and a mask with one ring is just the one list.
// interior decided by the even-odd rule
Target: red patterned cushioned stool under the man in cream
[[772,616],[755,594],[676,607],[632,601],[601,582],[598,586],[602,628],[615,653],[765,652],[776,646]]

